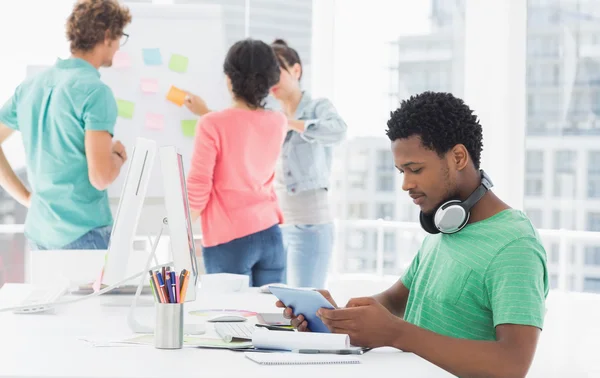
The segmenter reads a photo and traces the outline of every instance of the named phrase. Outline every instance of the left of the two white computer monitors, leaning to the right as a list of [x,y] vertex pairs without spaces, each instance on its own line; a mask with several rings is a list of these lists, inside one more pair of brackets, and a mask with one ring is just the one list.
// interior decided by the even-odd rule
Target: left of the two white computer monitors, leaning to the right
[[152,175],[156,150],[155,141],[137,138],[130,154],[129,168],[121,190],[104,267],[94,284],[96,291],[101,285],[113,285],[127,278],[127,264]]

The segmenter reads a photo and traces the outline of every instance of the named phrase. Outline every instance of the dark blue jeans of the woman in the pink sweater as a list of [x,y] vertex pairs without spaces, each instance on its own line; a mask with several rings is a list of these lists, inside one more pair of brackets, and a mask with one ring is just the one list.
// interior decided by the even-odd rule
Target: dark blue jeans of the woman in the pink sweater
[[202,248],[206,273],[243,274],[250,286],[285,280],[285,250],[279,225],[227,243]]

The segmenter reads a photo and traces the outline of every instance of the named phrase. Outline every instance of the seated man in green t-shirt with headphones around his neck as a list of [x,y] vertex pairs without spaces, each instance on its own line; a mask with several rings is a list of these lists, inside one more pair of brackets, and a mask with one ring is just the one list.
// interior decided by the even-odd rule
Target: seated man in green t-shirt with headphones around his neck
[[[525,214],[487,190],[477,117],[451,94],[424,92],[392,113],[387,135],[430,235],[391,288],[345,308],[323,291],[336,309],[319,317],[353,345],[413,352],[458,376],[525,376],[544,322],[546,252]],[[470,216],[437,211],[449,200],[474,204]],[[293,309],[284,315],[310,328]]]

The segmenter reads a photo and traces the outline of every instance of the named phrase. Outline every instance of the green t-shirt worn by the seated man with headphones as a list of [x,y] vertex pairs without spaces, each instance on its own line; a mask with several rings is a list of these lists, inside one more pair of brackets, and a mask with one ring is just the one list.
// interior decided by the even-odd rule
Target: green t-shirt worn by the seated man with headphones
[[405,320],[442,335],[495,340],[499,324],[544,323],[546,252],[519,210],[429,235],[401,280]]

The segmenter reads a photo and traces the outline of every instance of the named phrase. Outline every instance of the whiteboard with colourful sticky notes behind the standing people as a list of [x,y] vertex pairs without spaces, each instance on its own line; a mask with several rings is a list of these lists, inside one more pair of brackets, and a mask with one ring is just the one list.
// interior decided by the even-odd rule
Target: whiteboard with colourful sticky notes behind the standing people
[[[169,88],[194,92],[202,96],[211,109],[226,107],[231,99],[225,84],[223,61],[227,52],[224,20],[218,5],[126,4],[131,10],[132,22],[125,29],[127,43],[110,68],[101,68],[101,79],[112,89],[118,102],[133,103],[131,118],[119,116],[115,126],[115,140],[120,140],[132,155],[137,137],[153,139],[158,146],[174,145],[183,155],[186,173],[189,172],[193,136],[184,135],[182,121],[197,117],[185,106],[177,106],[166,99]],[[145,61],[145,49],[160,52],[161,63]],[[185,72],[170,69],[172,56],[187,58]],[[151,54],[152,55],[152,54]],[[152,58],[152,56],[149,56]],[[142,82],[156,81],[151,90]],[[158,117],[157,117],[158,116]],[[150,119],[163,122],[147,123]],[[111,198],[119,198],[128,164],[109,187]],[[154,164],[147,197],[163,196],[160,164]]]

